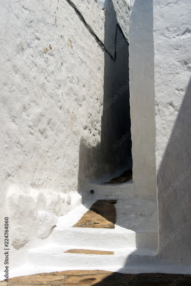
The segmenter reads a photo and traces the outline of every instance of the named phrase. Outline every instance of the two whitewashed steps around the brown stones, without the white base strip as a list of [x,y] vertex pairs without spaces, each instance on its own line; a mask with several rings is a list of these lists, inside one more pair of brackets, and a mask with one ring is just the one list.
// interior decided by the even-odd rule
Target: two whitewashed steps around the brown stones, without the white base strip
[[[86,201],[60,217],[46,244],[42,246],[42,241],[39,247],[27,250],[28,262],[36,267],[48,267],[51,263],[52,267],[59,265],[68,270],[106,269],[107,265],[111,271],[125,265],[132,269],[139,264],[154,263],[158,238],[156,199],[118,199],[115,229],[72,227],[96,200]],[[64,253],[68,249],[107,250],[114,254]]]

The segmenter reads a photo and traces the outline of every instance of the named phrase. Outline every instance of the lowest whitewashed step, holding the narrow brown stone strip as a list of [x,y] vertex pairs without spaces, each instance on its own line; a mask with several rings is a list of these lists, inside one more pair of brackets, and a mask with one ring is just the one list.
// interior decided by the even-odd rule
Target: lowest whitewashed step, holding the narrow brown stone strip
[[[28,250],[28,261],[36,267],[43,265],[56,267],[67,267],[68,269],[100,269],[105,265],[110,267],[122,268],[125,265],[135,265],[136,263],[150,263],[155,261],[155,255],[149,249],[123,248],[110,249],[114,251],[113,255],[97,255],[97,254],[76,254],[64,253],[71,247],[62,247],[60,245],[46,245]],[[74,249],[79,248],[74,246]],[[80,249],[84,249],[80,247]],[[87,249],[87,248],[85,248]],[[95,249],[94,249],[95,250]],[[96,249],[103,250],[103,249]]]

